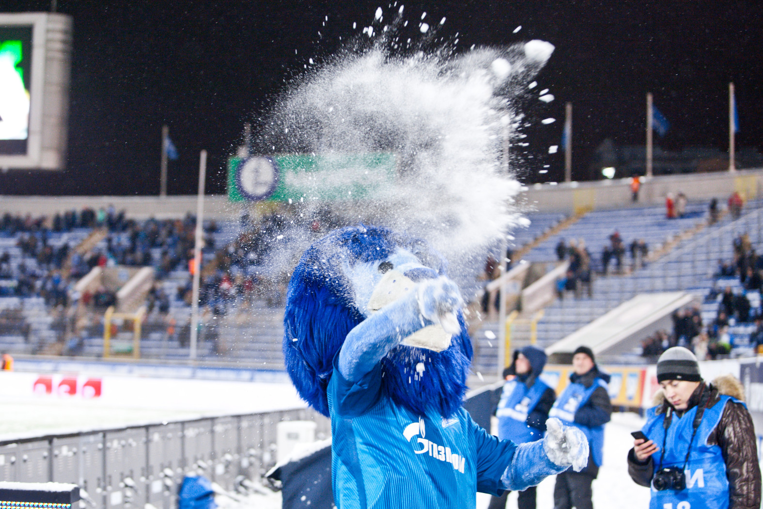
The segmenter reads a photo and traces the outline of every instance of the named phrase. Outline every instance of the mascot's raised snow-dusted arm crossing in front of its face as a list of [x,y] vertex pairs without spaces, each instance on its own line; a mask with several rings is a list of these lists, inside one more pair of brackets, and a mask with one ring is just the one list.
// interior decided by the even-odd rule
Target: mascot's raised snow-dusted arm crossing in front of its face
[[405,337],[436,322],[445,328],[447,321],[456,319],[461,304],[459,288],[449,279],[421,283],[416,292],[387,304],[349,331],[339,354],[340,373],[358,382]]

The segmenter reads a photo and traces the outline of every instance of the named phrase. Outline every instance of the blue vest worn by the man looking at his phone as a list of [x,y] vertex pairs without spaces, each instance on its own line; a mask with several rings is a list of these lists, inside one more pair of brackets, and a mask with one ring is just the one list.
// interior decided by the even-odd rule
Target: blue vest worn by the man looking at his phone
[[[729,400],[742,403],[730,396],[721,396],[720,401],[705,409],[700,426],[697,428],[697,435],[691,443],[689,462],[684,470],[686,489],[656,491],[652,488],[650,509],[704,509],[706,507],[707,509],[726,509],[729,507],[729,480],[726,478],[726,462],[723,461],[723,453],[720,446],[707,445],[707,437],[718,425],[723,415],[723,408],[726,408]],[[649,440],[660,448],[652,454],[655,472],[660,468],[663,443],[665,443],[665,458],[662,460],[662,467],[681,468],[684,466],[689,448],[697,407],[687,411],[681,418],[673,415],[667,430],[667,440],[665,440],[665,427],[663,427],[665,414],[656,414],[656,410],[657,407],[649,410],[643,428]]]

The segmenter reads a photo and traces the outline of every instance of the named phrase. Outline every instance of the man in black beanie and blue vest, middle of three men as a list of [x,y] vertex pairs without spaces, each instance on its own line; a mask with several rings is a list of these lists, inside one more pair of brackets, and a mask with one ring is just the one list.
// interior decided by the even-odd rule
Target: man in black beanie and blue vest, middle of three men
[[612,404],[607,384],[610,375],[599,370],[593,351],[580,346],[572,355],[570,383],[556,399],[549,417],[577,427],[588,438],[588,466],[581,472],[556,476],[554,509],[591,509],[591,483],[599,474],[604,456],[604,424],[610,421]]

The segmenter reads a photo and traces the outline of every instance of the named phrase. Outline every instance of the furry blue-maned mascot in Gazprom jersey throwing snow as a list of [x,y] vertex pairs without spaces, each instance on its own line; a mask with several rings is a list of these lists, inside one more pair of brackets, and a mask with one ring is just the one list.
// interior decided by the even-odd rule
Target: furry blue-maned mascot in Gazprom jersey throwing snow
[[285,364],[331,418],[336,507],[475,507],[569,467],[588,442],[549,419],[543,440],[498,440],[462,408],[472,344],[459,288],[422,240],[382,227],[334,230],[288,286]]

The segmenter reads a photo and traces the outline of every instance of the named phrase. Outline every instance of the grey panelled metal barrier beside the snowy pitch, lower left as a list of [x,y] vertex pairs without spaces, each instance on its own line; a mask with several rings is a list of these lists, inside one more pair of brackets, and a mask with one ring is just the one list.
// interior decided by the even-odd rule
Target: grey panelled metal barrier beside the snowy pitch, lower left
[[305,408],[0,441],[0,481],[69,482],[104,509],[171,509],[185,472],[229,491],[259,478],[275,464],[282,420],[314,420],[317,437],[330,436],[330,421]]

